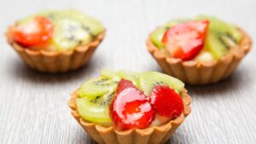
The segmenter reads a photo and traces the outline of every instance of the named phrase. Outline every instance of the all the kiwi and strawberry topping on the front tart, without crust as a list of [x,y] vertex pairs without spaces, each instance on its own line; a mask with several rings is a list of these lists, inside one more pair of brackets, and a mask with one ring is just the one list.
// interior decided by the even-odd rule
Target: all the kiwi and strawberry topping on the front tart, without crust
[[76,104],[88,122],[114,125],[117,130],[145,129],[181,114],[183,102],[178,94],[183,89],[183,82],[160,72],[102,70],[101,77],[80,86]]

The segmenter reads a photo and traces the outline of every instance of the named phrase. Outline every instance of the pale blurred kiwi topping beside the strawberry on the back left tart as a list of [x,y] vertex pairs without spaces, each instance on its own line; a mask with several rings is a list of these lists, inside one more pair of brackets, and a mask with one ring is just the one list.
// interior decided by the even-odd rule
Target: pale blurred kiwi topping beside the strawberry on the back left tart
[[103,31],[100,21],[78,10],[51,10],[39,13],[55,24],[52,42],[57,50],[73,49],[80,44],[89,43]]

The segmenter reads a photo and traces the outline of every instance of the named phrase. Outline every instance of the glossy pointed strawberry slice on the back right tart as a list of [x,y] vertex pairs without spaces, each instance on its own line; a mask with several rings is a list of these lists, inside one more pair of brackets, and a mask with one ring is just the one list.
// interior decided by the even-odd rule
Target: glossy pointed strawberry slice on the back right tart
[[162,43],[174,58],[192,60],[204,46],[209,20],[189,21],[172,26]]

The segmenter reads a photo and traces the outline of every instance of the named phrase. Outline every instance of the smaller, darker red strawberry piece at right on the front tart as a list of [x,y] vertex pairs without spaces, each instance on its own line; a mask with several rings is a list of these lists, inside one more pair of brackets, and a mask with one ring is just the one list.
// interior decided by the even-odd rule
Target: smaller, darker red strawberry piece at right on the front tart
[[177,118],[183,112],[183,101],[174,89],[156,85],[150,95],[150,103],[161,116]]

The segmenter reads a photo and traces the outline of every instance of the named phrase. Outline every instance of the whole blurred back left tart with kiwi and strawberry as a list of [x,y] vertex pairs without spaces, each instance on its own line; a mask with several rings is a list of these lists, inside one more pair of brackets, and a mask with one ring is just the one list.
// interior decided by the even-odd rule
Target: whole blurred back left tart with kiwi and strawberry
[[83,66],[102,42],[102,23],[82,12],[49,10],[17,20],[6,37],[21,59],[39,72],[67,72]]

